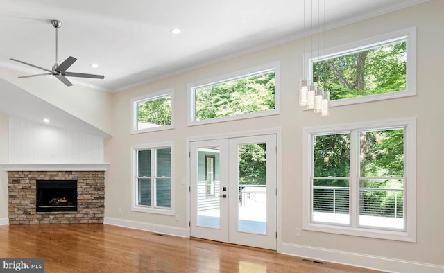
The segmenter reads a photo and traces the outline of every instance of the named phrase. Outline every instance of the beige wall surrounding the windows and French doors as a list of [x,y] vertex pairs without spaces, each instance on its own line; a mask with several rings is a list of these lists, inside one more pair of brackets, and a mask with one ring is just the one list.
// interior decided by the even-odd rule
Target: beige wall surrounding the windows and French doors
[[[187,178],[186,139],[208,134],[226,134],[247,130],[282,128],[282,221],[278,222],[282,242],[278,249],[290,254],[305,254],[315,258],[340,263],[377,267],[384,270],[418,272],[444,271],[444,220],[441,182],[441,155],[444,148],[442,118],[444,92],[441,91],[444,71],[444,1],[432,0],[397,12],[367,19],[355,24],[330,30],[325,36],[327,47],[355,42],[395,30],[417,26],[418,31],[418,95],[359,105],[346,105],[331,109],[330,116],[321,117],[303,112],[298,106],[298,79],[302,76],[302,41],[288,42],[270,49],[234,58],[225,62],[196,69],[178,76],[151,82],[142,87],[121,91],[114,95],[113,138],[105,141],[105,159],[111,168],[106,173],[105,218],[137,223],[146,227],[187,227],[187,188],[180,183]],[[251,118],[209,125],[187,127],[187,84],[213,78],[233,71],[270,62],[280,62],[281,113],[277,116]],[[173,130],[130,134],[130,100],[164,89],[175,91]],[[361,238],[302,231],[295,236],[295,227],[302,227],[302,128],[316,125],[384,121],[394,118],[417,118],[417,243]],[[130,211],[130,146],[143,143],[174,141],[176,154],[173,159],[176,181],[174,216],[155,215]],[[121,213],[119,212],[121,209]],[[340,255],[337,255],[340,252]],[[336,253],[336,255],[334,255]],[[383,257],[383,258],[375,258]],[[373,263],[377,261],[378,263]],[[406,262],[407,261],[407,262]],[[373,263],[373,264],[372,264]],[[393,265],[394,264],[394,265]],[[427,265],[427,264],[434,264]],[[405,267],[402,267],[405,265]],[[402,269],[404,268],[404,269]],[[413,271],[412,271],[413,270]]]

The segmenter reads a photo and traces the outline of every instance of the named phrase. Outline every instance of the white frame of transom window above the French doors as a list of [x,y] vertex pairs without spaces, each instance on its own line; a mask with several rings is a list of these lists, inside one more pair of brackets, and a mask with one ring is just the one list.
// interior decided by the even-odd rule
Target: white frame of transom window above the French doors
[[[187,126],[202,125],[209,123],[220,123],[224,121],[237,121],[246,118],[257,118],[260,116],[272,116],[275,114],[280,114],[280,72],[279,72],[280,62],[271,62],[269,64],[260,65],[257,67],[252,67],[250,69],[244,69],[234,73],[228,73],[221,76],[216,76],[214,78],[208,78],[206,80],[200,80],[198,82],[192,82],[188,84],[187,92]],[[205,87],[208,85],[217,85],[223,82],[230,82],[232,80],[240,80],[242,78],[248,78],[249,76],[260,75],[261,73],[267,73],[274,71],[275,73],[275,109],[253,112],[248,114],[239,114],[235,116],[222,116],[219,118],[205,119],[203,121],[196,121],[195,117],[195,89],[200,87]]]

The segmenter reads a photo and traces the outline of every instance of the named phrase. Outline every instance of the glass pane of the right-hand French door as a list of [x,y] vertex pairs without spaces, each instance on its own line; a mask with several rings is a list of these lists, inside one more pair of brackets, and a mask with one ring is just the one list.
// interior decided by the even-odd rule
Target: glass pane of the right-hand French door
[[266,234],[266,144],[238,147],[238,229]]

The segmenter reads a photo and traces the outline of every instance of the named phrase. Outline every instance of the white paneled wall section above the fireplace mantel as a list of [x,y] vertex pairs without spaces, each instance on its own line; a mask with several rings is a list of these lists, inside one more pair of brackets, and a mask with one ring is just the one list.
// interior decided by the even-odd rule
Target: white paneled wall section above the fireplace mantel
[[10,164],[103,163],[103,138],[9,118]]

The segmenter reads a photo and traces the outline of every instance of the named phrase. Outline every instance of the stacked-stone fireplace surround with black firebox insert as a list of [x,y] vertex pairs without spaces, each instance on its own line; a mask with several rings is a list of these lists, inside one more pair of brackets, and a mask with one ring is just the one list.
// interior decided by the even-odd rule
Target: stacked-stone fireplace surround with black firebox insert
[[8,170],[8,197],[10,224],[103,223],[105,171]]

